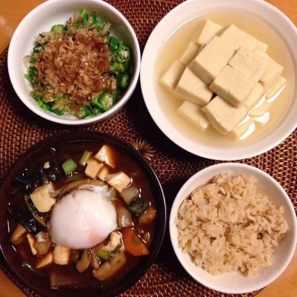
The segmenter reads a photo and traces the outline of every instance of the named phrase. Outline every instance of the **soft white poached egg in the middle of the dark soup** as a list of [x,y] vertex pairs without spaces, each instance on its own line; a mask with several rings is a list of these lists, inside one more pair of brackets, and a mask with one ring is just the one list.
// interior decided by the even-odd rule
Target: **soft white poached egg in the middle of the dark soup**
[[[85,190],[88,189],[88,190]],[[83,185],[63,196],[50,220],[51,241],[71,249],[92,248],[118,227],[107,186]]]

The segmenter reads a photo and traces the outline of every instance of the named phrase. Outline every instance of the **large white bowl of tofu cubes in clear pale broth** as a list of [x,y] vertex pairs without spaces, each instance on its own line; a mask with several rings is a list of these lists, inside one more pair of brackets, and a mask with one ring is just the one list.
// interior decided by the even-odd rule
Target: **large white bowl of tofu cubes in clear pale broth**
[[188,0],[153,30],[141,89],[158,127],[201,157],[265,153],[297,127],[297,29],[265,1]]

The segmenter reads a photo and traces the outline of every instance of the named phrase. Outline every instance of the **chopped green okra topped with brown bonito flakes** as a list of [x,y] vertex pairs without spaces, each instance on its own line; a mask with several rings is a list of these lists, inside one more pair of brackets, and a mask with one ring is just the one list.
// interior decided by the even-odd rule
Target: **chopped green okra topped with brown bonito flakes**
[[79,119],[114,106],[129,85],[133,64],[130,48],[110,36],[110,27],[84,9],[37,36],[32,55],[24,58],[37,105]]

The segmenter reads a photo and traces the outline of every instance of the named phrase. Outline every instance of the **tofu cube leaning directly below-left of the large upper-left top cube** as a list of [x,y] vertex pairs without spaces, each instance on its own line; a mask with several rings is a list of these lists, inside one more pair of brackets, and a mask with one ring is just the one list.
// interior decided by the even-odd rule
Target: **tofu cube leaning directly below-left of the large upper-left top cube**
[[204,82],[191,71],[189,66],[187,66],[183,72],[179,84],[175,88],[175,92],[202,106],[206,105],[213,96],[213,92],[210,90],[209,86],[204,84]]

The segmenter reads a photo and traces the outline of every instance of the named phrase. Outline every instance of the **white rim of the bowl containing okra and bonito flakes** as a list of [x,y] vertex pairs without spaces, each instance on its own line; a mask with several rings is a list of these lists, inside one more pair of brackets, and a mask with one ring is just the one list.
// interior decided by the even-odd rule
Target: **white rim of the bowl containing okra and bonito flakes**
[[[69,2],[69,0],[47,0],[47,1],[39,4],[38,6],[36,6],[24,17],[24,19],[22,19],[22,21],[19,23],[19,25],[17,26],[17,28],[15,29],[15,32],[13,33],[13,35],[11,37],[10,45],[8,48],[8,56],[7,56],[8,74],[9,74],[9,77],[11,80],[11,84],[15,90],[15,93],[17,94],[19,99],[30,110],[32,110],[30,101],[28,100],[28,98],[24,98],[22,93],[19,92],[18,83],[14,80],[13,77],[11,77],[10,69],[12,67],[12,65],[11,65],[12,59],[13,59],[12,50],[14,47],[14,43],[15,43],[15,40],[16,40],[17,36],[19,35],[19,31],[21,31],[22,25],[24,23],[26,23],[29,19],[31,19],[31,17],[33,17],[36,13],[38,13],[38,11],[43,10],[46,7],[52,6],[55,3],[61,3],[61,2]],[[81,2],[83,3],[84,1],[82,0]],[[111,114],[114,114],[116,111],[118,111],[120,108],[122,108],[123,105],[125,105],[127,103],[129,98],[131,97],[132,93],[134,92],[134,90],[136,88],[136,84],[138,82],[138,78],[139,78],[139,74],[140,74],[140,59],[141,59],[140,58],[140,46],[139,46],[136,34],[135,34],[132,26],[120,12],[116,8],[114,8],[112,5],[110,5],[109,3],[104,2],[102,0],[88,0],[88,2],[92,2],[94,4],[106,7],[107,9],[112,11],[114,14],[116,14],[118,16],[118,18],[121,20],[121,22],[123,22],[123,24],[127,27],[129,33],[131,34],[133,43],[135,44],[135,48],[136,48],[136,53],[133,53],[135,55],[135,61],[136,61],[135,65],[134,65],[133,79],[130,81],[129,87],[126,90],[126,93],[124,94],[124,96],[121,98],[121,100],[118,101],[110,110],[107,110],[100,115],[94,115],[92,117],[88,117],[88,118],[84,118],[84,119],[73,119],[72,120],[72,119],[56,117],[49,113],[44,113],[44,112],[42,112],[43,110],[41,108],[32,110],[35,114],[37,114],[37,115],[41,116],[42,118],[45,118],[51,122],[54,122],[54,123],[66,124],[66,125],[85,125],[85,124],[94,123],[94,122],[103,120],[103,119],[109,117]]]

